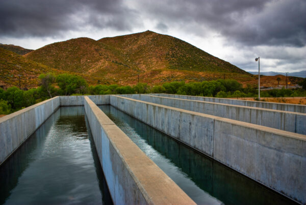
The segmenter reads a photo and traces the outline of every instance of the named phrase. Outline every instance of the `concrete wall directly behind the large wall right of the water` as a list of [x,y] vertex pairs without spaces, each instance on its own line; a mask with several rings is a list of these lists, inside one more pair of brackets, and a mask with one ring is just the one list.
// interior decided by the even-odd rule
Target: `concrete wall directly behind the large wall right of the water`
[[157,103],[205,114],[306,134],[306,113],[230,105],[151,95],[124,95],[136,100]]

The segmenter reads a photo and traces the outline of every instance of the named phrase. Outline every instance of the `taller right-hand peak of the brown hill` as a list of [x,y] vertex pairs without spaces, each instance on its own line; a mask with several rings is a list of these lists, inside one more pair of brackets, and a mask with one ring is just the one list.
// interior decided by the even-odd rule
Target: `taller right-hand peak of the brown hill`
[[151,31],[103,38],[99,42],[124,53],[141,70],[174,69],[248,74],[185,41]]

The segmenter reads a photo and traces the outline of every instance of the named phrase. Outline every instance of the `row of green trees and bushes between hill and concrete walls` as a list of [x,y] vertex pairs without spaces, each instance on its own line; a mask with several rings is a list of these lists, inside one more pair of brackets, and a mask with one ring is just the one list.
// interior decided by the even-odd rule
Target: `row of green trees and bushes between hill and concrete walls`
[[[72,74],[52,73],[39,76],[40,86],[24,91],[18,87],[0,89],[0,114],[9,114],[24,107],[28,107],[46,99],[62,95],[115,95],[115,94],[146,94],[166,93],[178,95],[207,96],[218,98],[258,97],[257,86],[247,85],[232,79],[218,79],[212,81],[189,82],[174,81],[162,85],[149,86],[138,83],[134,86],[91,85],[80,76]],[[302,81],[302,89],[280,89],[261,91],[261,97],[297,97],[306,96],[306,78]]]

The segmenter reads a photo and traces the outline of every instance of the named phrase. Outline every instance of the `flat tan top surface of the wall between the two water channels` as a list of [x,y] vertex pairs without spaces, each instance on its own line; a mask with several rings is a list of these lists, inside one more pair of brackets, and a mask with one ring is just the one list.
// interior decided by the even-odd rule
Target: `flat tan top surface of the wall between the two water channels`
[[196,204],[95,103],[84,99],[149,204]]

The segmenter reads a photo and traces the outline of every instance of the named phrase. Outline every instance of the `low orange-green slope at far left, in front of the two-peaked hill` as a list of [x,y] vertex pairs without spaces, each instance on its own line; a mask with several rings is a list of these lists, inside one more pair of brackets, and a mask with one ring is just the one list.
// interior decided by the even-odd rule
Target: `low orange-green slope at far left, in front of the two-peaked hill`
[[[64,73],[63,70],[50,68],[46,65],[34,62],[28,58],[18,55],[12,51],[0,48],[0,86],[19,86],[19,75],[21,89],[27,87],[37,87],[39,85],[38,76],[42,73],[52,72],[55,74]],[[71,74],[76,74],[70,72]],[[99,80],[101,83],[113,83],[104,81],[103,78],[93,77],[86,74],[78,74],[85,78],[88,83],[96,84]]]

